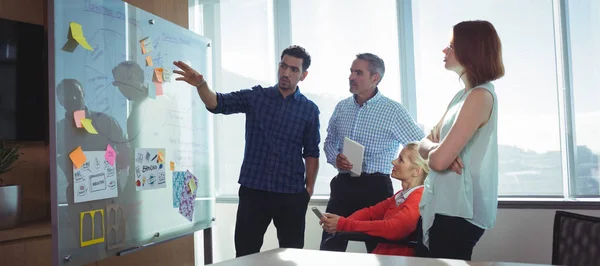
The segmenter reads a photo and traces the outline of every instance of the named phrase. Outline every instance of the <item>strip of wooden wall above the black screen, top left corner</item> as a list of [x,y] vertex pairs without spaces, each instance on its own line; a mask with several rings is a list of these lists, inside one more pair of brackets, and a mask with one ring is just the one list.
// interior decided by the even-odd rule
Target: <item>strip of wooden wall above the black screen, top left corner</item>
[[0,17],[46,25],[47,0],[1,0]]

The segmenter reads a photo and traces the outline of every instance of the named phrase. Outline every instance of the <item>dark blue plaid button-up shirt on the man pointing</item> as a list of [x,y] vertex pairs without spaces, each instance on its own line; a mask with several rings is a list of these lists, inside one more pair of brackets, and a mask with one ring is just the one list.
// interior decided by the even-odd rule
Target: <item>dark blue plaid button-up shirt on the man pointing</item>
[[221,114],[246,114],[246,148],[239,183],[280,193],[305,189],[303,157],[319,157],[319,108],[300,89],[283,98],[277,86],[217,93]]

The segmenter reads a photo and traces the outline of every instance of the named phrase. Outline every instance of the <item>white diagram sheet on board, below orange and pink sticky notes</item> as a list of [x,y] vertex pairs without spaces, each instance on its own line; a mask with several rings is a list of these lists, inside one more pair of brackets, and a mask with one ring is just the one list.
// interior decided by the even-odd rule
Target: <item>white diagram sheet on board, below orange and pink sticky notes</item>
[[119,196],[116,162],[111,165],[105,151],[84,151],[87,161],[80,168],[73,166],[75,203]]

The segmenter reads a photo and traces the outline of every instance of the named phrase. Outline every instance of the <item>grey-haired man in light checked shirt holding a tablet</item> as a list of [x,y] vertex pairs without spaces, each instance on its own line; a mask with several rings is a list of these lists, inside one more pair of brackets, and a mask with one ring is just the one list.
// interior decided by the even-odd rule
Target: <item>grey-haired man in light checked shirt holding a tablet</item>
[[[425,137],[402,104],[381,94],[377,85],[385,65],[374,54],[358,54],[350,68],[351,97],[335,107],[325,139],[327,162],[339,173],[331,180],[327,212],[348,217],[357,210],[383,201],[393,194],[390,173],[400,145]],[[351,176],[352,164],[343,154],[344,138],[365,147],[360,176]],[[345,251],[347,241],[323,231],[322,250]],[[376,243],[365,243],[370,253]]]

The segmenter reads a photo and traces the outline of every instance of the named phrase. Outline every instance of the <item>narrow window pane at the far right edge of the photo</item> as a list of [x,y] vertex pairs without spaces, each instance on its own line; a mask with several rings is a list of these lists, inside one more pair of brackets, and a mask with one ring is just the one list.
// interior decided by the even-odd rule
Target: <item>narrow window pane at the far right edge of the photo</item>
[[577,143],[575,185],[578,196],[600,194],[600,2],[568,1],[570,12],[573,110]]

